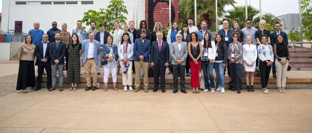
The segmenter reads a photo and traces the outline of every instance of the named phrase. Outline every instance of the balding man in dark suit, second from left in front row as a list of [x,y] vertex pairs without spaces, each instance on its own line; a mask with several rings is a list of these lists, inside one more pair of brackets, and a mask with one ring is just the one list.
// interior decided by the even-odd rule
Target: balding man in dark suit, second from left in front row
[[36,66],[38,66],[38,76],[37,76],[37,87],[35,91],[41,89],[41,81],[42,81],[42,73],[44,69],[46,69],[46,87],[48,89],[51,88],[51,58],[49,54],[50,43],[48,42],[48,34],[42,35],[42,43],[36,44],[35,55],[37,57]]

